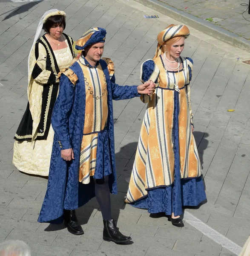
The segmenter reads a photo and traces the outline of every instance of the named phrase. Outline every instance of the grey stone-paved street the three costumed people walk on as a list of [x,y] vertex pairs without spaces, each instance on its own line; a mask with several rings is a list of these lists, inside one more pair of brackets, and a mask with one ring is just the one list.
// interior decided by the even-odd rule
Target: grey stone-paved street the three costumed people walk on
[[[146,106],[114,102],[118,195],[112,212],[133,244],[102,240],[95,199],[78,209],[85,234],[37,223],[47,180],[18,172],[11,163],[13,136],[27,103],[27,56],[40,16],[67,13],[65,32],[77,39],[89,27],[107,29],[105,56],[115,62],[118,84],[139,84],[140,65],[152,58],[158,32],[178,23],[133,0],[0,2],[0,241],[20,239],[32,256],[235,256],[250,235],[250,54],[190,28],[184,56],[194,60],[192,105],[195,139],[208,202],[185,209],[185,224],[124,205]],[[145,19],[143,15],[160,15]],[[9,15],[9,16],[8,16]],[[235,109],[235,112],[228,112]]]

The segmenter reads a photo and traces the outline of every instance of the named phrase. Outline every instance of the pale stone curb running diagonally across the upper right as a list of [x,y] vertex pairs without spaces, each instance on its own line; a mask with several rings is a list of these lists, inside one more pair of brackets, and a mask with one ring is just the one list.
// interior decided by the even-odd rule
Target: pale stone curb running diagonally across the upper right
[[181,23],[185,23],[207,35],[211,35],[227,44],[234,47],[238,47],[247,52],[250,52],[250,41],[236,35],[233,32],[227,31],[213,23],[202,20],[201,18],[195,17],[189,13],[180,11],[172,6],[162,3],[159,0],[135,0],[138,3],[143,4],[157,12],[160,12],[168,17],[178,20]]

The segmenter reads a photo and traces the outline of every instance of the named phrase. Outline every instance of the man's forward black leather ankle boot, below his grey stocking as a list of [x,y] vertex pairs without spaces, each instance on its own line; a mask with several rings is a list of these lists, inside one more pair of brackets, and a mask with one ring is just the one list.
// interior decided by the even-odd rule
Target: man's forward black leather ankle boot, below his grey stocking
[[131,240],[130,236],[124,236],[116,227],[115,221],[113,219],[104,221],[103,220],[103,240],[113,241],[116,244],[125,243]]

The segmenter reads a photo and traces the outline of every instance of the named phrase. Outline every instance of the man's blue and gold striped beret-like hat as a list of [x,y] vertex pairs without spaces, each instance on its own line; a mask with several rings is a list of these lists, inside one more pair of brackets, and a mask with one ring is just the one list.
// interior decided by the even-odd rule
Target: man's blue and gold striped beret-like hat
[[106,37],[106,29],[92,28],[85,32],[78,41],[75,42],[75,49],[84,50],[88,45],[95,43],[104,43]]

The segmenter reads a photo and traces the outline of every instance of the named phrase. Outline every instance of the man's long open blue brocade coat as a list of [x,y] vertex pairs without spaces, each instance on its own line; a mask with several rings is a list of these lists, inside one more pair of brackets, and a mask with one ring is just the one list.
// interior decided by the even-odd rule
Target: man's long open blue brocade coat
[[[112,100],[131,99],[140,95],[137,86],[119,86],[115,84],[114,76],[110,80],[106,62],[100,60],[100,64],[106,77],[108,91],[109,115],[106,129],[109,135],[109,157],[112,165],[109,188],[112,194],[117,194]],[[55,137],[49,180],[38,222],[59,224],[63,221],[63,209],[77,209],[95,196],[92,182],[82,184],[78,181],[86,94],[84,74],[78,61],[72,64],[70,69],[76,74],[78,80],[74,86],[64,74],[60,78],[59,94],[55,102],[51,122]],[[63,160],[61,150],[67,148],[73,148],[75,160],[70,162]],[[105,158],[105,152],[103,152],[103,157]]]

